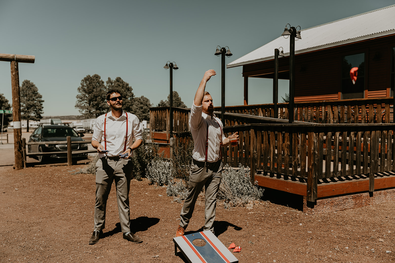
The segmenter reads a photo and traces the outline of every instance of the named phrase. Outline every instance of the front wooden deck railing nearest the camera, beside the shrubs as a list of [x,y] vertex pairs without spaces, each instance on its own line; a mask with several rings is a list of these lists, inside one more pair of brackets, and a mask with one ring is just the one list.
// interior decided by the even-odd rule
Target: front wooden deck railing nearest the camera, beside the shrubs
[[[394,170],[394,124],[248,124],[225,127],[225,136],[239,132],[239,144],[222,148],[224,164],[307,178],[307,200],[317,199],[318,179]],[[190,143],[182,134],[182,141]]]

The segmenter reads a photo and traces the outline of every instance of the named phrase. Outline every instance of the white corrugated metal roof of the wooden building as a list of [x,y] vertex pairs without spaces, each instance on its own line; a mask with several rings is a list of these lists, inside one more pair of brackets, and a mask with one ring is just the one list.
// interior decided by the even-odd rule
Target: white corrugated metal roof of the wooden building
[[[391,34],[395,34],[395,5],[301,30],[302,39],[295,41],[295,54]],[[274,49],[279,47],[289,56],[290,40],[280,36],[226,67],[271,60]]]

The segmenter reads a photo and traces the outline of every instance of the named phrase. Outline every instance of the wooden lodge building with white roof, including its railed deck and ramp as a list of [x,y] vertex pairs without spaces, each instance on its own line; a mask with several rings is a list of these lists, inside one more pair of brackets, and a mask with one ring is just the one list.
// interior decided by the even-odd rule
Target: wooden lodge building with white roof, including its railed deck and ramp
[[[395,5],[301,30],[292,121],[288,103],[278,103],[277,114],[275,103],[248,104],[248,78],[274,77],[275,48],[285,53],[278,76],[289,79],[289,39],[229,63],[243,67],[245,103],[225,107],[224,133],[240,138],[222,148],[224,164],[242,164],[252,182],[300,196],[304,211],[395,199],[394,14]],[[192,139],[190,109],[172,109],[169,134],[169,108],[150,108],[151,138],[182,155]]]

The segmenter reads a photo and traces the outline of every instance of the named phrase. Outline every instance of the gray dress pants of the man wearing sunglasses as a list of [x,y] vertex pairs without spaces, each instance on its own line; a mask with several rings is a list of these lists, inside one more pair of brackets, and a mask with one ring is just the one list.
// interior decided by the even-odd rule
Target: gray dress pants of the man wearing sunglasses
[[111,185],[115,181],[117,203],[122,232],[130,232],[129,190],[132,160],[102,157],[96,162],[96,204],[94,230],[105,228],[105,209]]

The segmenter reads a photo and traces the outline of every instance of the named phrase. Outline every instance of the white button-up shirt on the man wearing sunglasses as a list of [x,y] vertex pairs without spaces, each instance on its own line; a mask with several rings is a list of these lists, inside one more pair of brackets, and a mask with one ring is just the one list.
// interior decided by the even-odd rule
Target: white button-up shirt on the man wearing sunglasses
[[[104,149],[104,118],[105,114],[96,119],[93,126],[92,140],[101,142]],[[118,156],[124,151],[125,136],[126,136],[126,114],[123,111],[122,115],[115,119],[111,112],[107,113],[107,120],[105,121],[105,136],[107,138],[107,156]],[[140,121],[134,114],[128,112],[128,138],[126,140],[126,149],[133,144],[135,140],[143,139],[141,135]],[[104,157],[105,154],[99,153],[99,158]],[[133,152],[130,156],[133,156]]]

